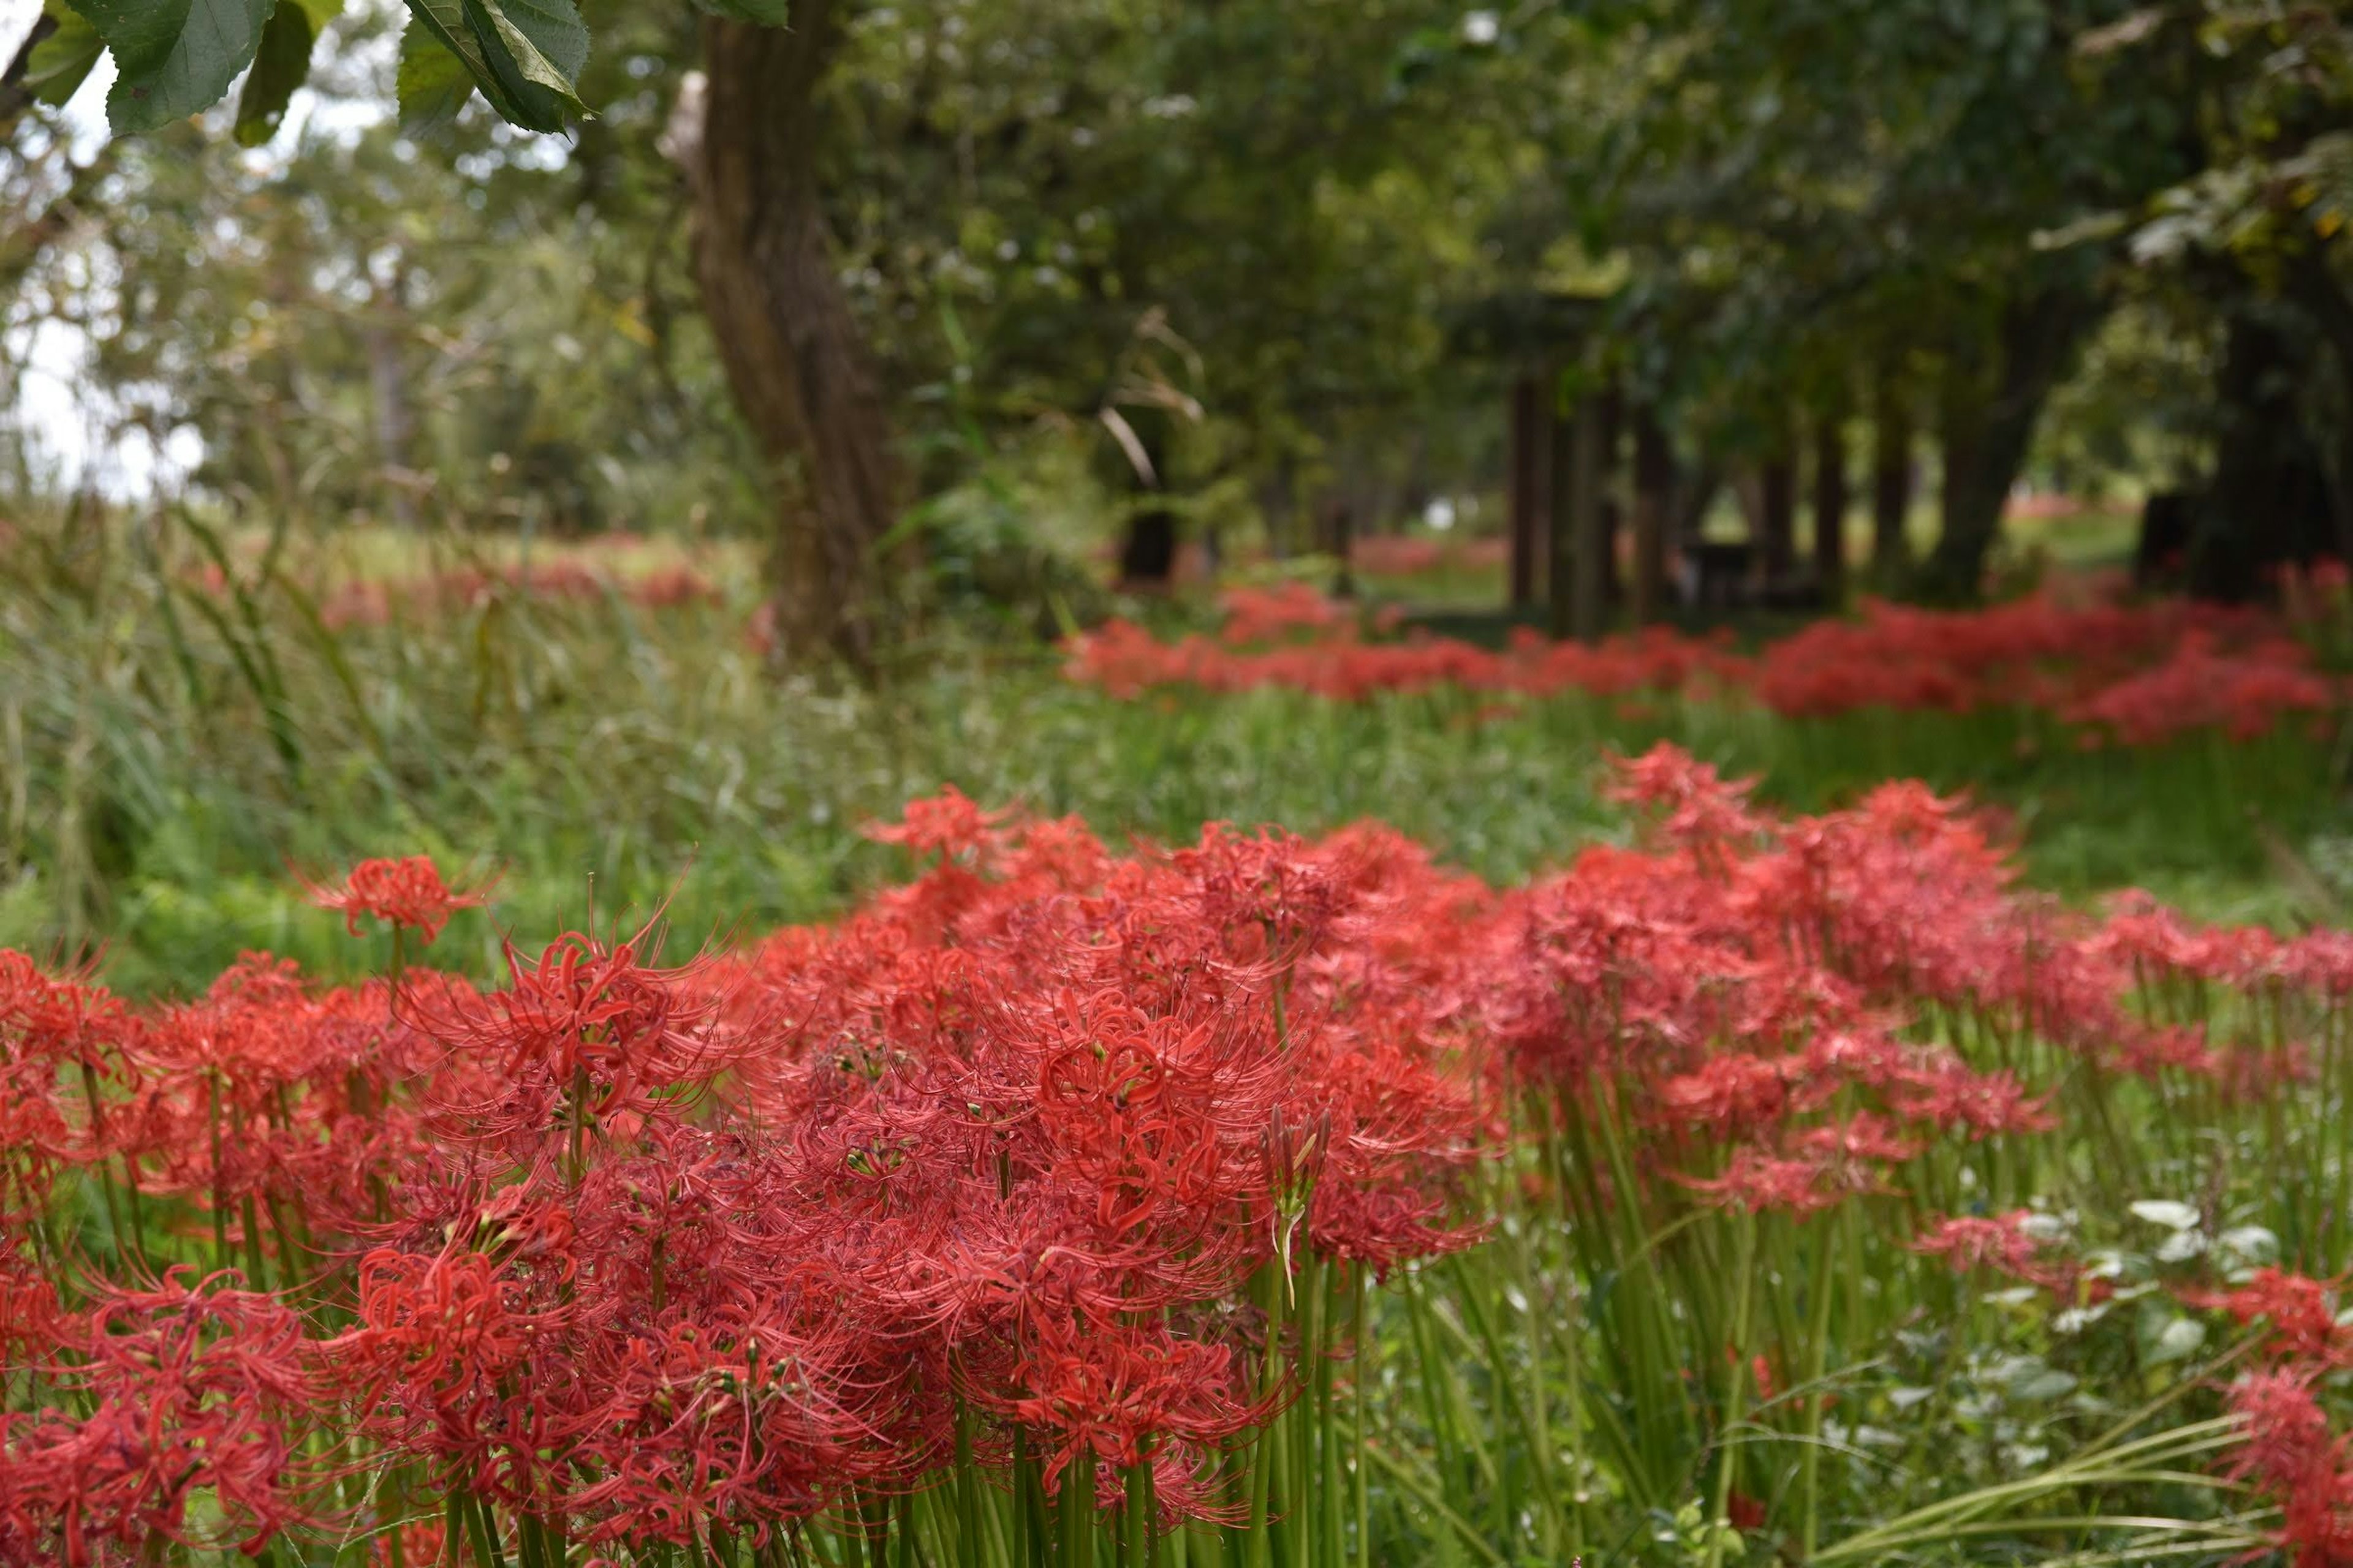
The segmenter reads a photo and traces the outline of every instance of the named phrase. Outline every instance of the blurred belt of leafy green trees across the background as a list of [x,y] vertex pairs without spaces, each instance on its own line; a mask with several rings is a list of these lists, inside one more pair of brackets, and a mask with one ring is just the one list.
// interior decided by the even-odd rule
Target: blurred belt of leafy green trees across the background
[[19,496],[144,489],[129,444],[294,522],[760,536],[779,644],[854,661],[1089,552],[1497,501],[1515,381],[1609,421],[1612,520],[1744,515],[1805,602],[1984,592],[2021,480],[2172,496],[2151,571],[2226,597],[2353,541],[2325,7],[602,5],[588,113],[529,134],[402,129],[355,5],[254,148],[238,94],[42,101],[61,14],[0,89]]

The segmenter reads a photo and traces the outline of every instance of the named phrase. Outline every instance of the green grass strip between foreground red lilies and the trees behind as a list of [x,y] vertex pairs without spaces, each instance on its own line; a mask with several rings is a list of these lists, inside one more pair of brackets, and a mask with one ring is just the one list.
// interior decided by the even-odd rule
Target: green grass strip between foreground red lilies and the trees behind
[[[2019,715],[1113,701],[1066,684],[1052,654],[972,642],[856,689],[767,670],[741,602],[499,597],[329,635],[294,576],[181,585],[202,562],[186,531],[101,541],[14,550],[0,578],[0,943],[104,952],[132,992],[198,985],[245,947],[348,971],[365,954],[301,905],[289,867],[381,853],[501,875],[499,919],[522,938],[664,903],[680,940],[809,919],[896,870],[856,827],[941,783],[1113,837],[1384,818],[1501,882],[1619,835],[1595,797],[1602,750],[1673,738],[1795,809],[1889,776],[1969,790],[2014,816],[2031,875],[2068,898],[2141,884],[2271,922],[2325,914],[2278,856],[2348,823],[2341,759],[2306,736],[2080,752]],[[471,917],[433,957],[485,966],[494,943]]]

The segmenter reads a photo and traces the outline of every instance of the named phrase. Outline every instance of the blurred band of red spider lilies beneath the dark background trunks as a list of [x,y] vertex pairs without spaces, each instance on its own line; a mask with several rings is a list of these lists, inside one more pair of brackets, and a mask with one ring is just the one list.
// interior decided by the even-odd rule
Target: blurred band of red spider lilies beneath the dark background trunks
[[1668,628],[1600,644],[1522,632],[1501,654],[1447,637],[1381,642],[1306,588],[1233,590],[1226,614],[1217,637],[1176,642],[1113,621],[1071,644],[1068,672],[1115,696],[1160,686],[1292,686],[1339,701],[1433,686],[1506,696],[1689,689],[1746,693],[1786,717],[2033,708],[2080,726],[2087,743],[2122,745],[2205,726],[2252,738],[2344,701],[2341,682],[2313,668],[2308,639],[2257,611],[2188,602],[2035,595],[1927,611],[1866,599],[1857,618],[1817,621],[1755,656]]

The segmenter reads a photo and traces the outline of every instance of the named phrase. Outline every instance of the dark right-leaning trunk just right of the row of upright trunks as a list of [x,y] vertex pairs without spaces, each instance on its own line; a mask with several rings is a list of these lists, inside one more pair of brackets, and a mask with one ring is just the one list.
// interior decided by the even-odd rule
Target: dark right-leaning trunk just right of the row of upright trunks
[[[1965,604],[1984,592],[1986,552],[2002,531],[2009,487],[2026,465],[2042,404],[2066,371],[2099,301],[2082,287],[2047,287],[2002,310],[1991,378],[1946,378],[1944,496],[1937,548],[1920,569],[1920,597]],[[1988,386],[1991,383],[1991,386]]]

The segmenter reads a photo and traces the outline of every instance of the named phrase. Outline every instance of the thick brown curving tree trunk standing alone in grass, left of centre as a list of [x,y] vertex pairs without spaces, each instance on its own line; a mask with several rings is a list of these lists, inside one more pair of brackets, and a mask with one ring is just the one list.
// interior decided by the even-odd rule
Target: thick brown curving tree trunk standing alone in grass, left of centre
[[816,186],[819,87],[840,40],[838,0],[802,0],[791,28],[706,19],[708,103],[680,158],[704,313],[781,489],[776,642],[871,665],[889,632],[880,545],[904,477]]

